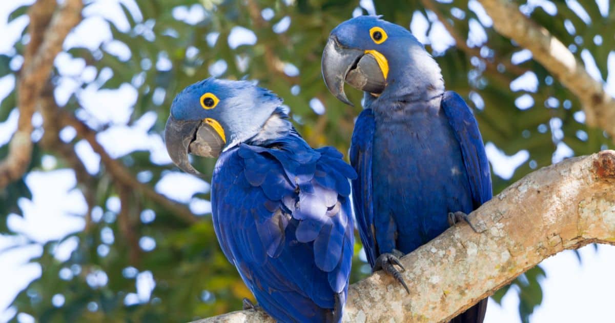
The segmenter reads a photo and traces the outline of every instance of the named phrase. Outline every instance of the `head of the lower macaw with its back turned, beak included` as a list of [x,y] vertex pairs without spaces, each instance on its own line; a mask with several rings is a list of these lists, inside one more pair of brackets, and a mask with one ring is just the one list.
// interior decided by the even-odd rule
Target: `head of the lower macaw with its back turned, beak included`
[[217,158],[258,134],[282,99],[249,81],[208,78],[175,97],[164,130],[173,163],[199,175],[188,154]]

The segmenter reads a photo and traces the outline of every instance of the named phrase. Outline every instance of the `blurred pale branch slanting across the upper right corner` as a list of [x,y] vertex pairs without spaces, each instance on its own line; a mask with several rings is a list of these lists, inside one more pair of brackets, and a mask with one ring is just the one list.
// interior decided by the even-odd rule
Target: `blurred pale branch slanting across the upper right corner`
[[537,62],[579,98],[587,125],[604,129],[615,140],[615,100],[605,92],[603,83],[593,79],[564,44],[546,28],[523,15],[514,2],[478,2],[493,19],[493,27],[498,33],[529,49]]

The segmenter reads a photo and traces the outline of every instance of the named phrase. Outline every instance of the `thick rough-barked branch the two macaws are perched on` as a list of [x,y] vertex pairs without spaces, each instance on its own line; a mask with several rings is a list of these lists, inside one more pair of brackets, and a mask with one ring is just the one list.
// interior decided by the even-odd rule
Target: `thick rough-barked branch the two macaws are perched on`
[[[467,225],[402,258],[410,295],[375,273],[349,289],[344,322],[441,322],[565,249],[615,244],[615,151],[567,159],[517,181]],[[272,322],[262,311],[197,321]]]

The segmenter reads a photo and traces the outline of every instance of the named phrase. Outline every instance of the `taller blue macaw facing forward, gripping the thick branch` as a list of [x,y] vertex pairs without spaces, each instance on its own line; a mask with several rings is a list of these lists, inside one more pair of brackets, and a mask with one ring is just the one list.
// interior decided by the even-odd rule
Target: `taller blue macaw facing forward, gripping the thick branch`
[[[380,17],[333,29],[322,73],[345,103],[352,104],[345,82],[364,91],[350,152],[359,173],[352,181],[356,220],[370,265],[408,290],[398,257],[456,221],[472,226],[467,213],[491,199],[476,119],[458,94],[445,91],[440,67],[410,31]],[[453,322],[482,322],[485,311],[482,300]]]

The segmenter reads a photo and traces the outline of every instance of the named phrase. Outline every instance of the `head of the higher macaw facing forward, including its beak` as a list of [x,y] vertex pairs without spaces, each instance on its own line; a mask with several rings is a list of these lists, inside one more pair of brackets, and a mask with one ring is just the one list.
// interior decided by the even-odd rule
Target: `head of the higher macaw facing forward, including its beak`
[[330,92],[349,105],[344,82],[372,97],[399,95],[402,87],[443,88],[440,68],[423,44],[406,28],[379,16],[355,17],[331,31],[322,54],[322,76]]

